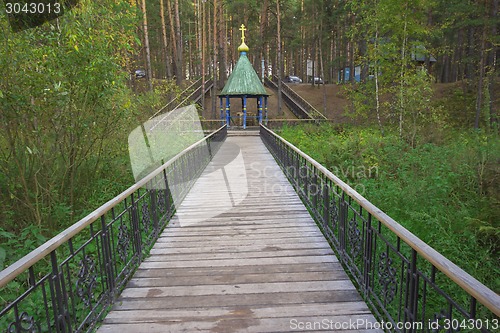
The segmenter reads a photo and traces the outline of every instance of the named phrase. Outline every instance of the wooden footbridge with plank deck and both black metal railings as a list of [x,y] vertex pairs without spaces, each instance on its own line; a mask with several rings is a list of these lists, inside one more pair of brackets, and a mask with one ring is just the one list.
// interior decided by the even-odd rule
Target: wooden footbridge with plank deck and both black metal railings
[[498,331],[496,293],[309,156],[227,133],[0,272],[2,331]]

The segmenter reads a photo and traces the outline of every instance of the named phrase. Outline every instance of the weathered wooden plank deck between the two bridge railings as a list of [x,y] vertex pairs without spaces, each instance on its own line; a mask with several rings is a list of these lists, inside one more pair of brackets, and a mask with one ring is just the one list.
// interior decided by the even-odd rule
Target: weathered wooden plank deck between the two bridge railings
[[380,332],[258,136],[230,136],[98,332]]

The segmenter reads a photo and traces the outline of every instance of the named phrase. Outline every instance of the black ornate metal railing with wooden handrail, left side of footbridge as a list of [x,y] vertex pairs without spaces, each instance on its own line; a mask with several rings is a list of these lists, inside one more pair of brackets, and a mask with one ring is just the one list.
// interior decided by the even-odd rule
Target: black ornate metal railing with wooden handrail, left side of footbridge
[[226,136],[220,127],[1,271],[1,331],[92,331]]

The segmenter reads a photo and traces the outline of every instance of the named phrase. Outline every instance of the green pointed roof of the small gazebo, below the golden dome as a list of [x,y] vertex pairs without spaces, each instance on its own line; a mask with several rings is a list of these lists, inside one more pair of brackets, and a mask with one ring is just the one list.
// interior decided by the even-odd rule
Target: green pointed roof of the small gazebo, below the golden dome
[[229,76],[220,96],[258,95],[269,96],[260,82],[252,64],[248,60],[246,52],[241,52],[240,59],[236,63],[233,72]]

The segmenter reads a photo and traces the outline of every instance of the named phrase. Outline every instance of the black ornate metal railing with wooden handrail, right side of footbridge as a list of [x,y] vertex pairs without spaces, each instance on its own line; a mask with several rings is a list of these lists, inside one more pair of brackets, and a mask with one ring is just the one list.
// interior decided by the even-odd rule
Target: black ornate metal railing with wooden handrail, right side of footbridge
[[499,331],[500,296],[298,148],[260,135],[385,331]]

